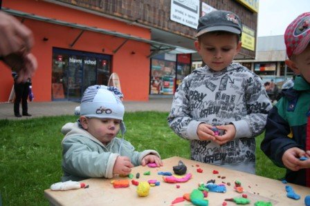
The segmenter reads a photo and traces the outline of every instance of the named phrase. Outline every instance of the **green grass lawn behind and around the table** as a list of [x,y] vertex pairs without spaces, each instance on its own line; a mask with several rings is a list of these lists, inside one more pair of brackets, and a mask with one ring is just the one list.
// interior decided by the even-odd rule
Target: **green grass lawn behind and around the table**
[[[190,158],[189,142],[167,125],[167,112],[125,114],[125,138],[136,150],[157,150],[162,158]],[[61,170],[62,125],[76,116],[55,116],[22,121],[0,121],[0,193],[3,205],[48,205],[44,189],[59,182]],[[257,175],[279,179],[284,169],[275,167],[259,149]],[[0,201],[1,203],[1,201]]]

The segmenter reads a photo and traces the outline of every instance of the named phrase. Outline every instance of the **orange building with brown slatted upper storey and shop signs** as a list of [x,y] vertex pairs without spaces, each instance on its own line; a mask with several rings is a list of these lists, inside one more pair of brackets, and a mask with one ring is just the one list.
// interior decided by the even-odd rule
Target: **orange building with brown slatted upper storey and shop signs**
[[[35,36],[35,101],[79,101],[86,87],[106,85],[112,72],[120,77],[126,101],[147,101],[149,94],[173,94],[192,61],[200,60],[195,25],[210,8],[239,15],[245,46],[237,59],[255,59],[258,0],[250,2],[3,0],[1,9]],[[178,13],[193,20],[182,23]],[[6,102],[13,80],[6,65],[0,68],[0,102]]]

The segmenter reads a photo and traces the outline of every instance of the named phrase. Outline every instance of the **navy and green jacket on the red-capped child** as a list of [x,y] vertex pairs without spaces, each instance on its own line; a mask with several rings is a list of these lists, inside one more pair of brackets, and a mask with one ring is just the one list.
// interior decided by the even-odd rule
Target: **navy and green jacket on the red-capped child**
[[[310,83],[302,76],[295,79],[293,88],[269,112],[261,149],[279,167],[284,152],[291,147],[310,150]],[[307,176],[307,178],[306,178]],[[310,168],[293,172],[286,169],[286,181],[310,187]]]

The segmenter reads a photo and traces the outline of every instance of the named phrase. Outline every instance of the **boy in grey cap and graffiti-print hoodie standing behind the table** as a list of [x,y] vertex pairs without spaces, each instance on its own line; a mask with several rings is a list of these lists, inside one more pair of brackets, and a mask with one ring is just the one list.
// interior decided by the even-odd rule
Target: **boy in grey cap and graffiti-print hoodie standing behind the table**
[[232,62],[241,32],[233,12],[199,19],[194,45],[206,65],[176,90],[168,123],[190,141],[192,160],[255,174],[255,136],[272,106],[259,76]]

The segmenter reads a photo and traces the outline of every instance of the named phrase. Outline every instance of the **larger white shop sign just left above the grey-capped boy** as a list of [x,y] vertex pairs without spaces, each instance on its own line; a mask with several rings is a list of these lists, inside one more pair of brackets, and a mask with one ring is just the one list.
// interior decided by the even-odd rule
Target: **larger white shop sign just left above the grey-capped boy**
[[170,19],[197,29],[199,0],[171,0]]

